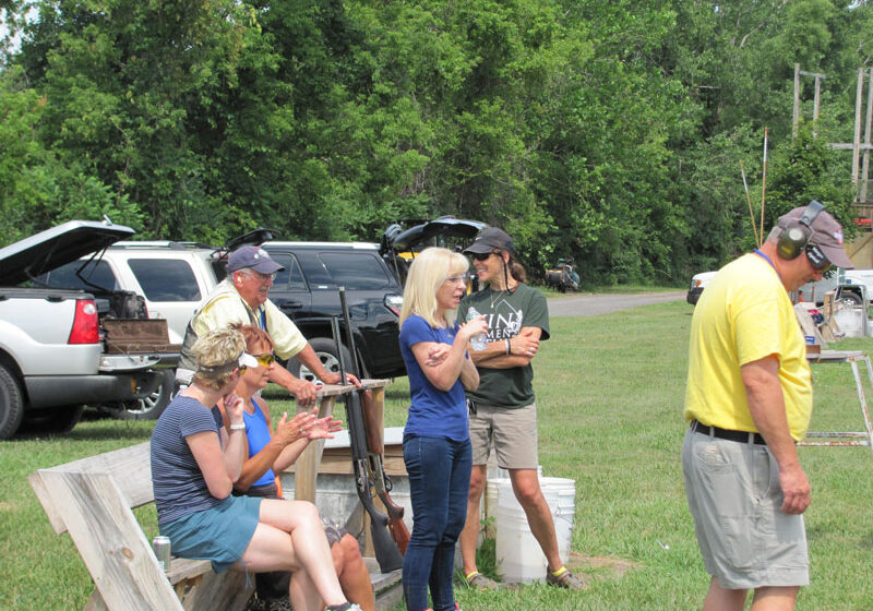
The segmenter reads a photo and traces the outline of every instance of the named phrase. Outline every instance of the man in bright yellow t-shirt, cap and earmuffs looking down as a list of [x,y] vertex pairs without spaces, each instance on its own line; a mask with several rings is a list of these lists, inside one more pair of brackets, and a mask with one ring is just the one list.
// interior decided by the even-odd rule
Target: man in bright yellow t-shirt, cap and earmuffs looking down
[[761,249],[722,267],[694,310],[682,468],[706,572],[705,611],[791,610],[809,584],[810,483],[796,442],[812,375],[788,291],[851,268],[842,228],[811,202],[779,217]]

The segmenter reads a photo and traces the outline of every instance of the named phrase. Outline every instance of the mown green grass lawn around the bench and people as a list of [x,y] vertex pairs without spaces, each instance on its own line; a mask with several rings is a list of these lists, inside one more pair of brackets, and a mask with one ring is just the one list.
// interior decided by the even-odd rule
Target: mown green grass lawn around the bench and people
[[[708,577],[679,460],[691,312],[673,302],[552,320],[552,339],[536,366],[540,462],[547,476],[576,480],[572,548],[591,586],[583,594],[545,586],[479,594],[461,586],[456,595],[467,611],[701,607]],[[833,347],[871,352],[873,340]],[[811,430],[862,430],[849,366],[813,370]],[[290,407],[272,404],[277,412]],[[402,426],[407,405],[408,385],[397,380],[386,393],[386,424]],[[0,443],[0,609],[81,609],[91,591],[70,538],[50,529],[27,474],[145,441],[150,431],[150,423],[94,420],[64,436]],[[802,447],[800,455],[813,486],[806,512],[812,585],[798,608],[873,609],[873,454]],[[139,517],[154,534],[153,512]]]

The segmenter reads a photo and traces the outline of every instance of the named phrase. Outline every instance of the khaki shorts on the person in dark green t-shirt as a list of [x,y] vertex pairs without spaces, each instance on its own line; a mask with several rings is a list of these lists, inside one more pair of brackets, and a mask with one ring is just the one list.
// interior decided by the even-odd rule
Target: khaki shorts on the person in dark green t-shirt
[[501,469],[536,469],[537,404],[506,409],[477,403],[476,414],[470,414],[470,442],[474,465],[488,463],[493,443]]

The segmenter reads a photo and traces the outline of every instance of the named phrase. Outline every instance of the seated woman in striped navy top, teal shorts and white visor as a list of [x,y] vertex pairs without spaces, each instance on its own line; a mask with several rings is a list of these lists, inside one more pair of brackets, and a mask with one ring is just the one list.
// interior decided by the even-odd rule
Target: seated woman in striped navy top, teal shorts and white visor
[[360,609],[343,594],[314,505],[230,494],[246,459],[243,402],[234,388],[247,367],[258,366],[244,348],[238,331],[201,337],[193,383],[155,424],[152,486],[160,534],[175,555],[211,560],[217,572],[294,571],[289,594],[298,611],[320,611],[323,603],[332,611]]

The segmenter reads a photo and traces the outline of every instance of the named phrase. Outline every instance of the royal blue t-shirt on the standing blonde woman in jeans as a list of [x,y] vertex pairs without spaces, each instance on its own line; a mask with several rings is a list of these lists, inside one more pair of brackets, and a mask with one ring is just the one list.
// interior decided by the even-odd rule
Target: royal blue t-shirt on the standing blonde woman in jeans
[[439,342],[451,346],[457,328],[457,323],[452,328],[434,328],[417,314],[404,321],[400,327],[400,352],[412,396],[404,434],[449,438],[452,441],[466,441],[469,438],[467,402],[461,380],[456,380],[447,393],[440,391],[430,383],[412,354],[412,346],[420,342]]

